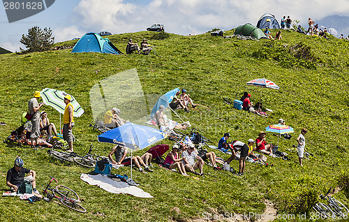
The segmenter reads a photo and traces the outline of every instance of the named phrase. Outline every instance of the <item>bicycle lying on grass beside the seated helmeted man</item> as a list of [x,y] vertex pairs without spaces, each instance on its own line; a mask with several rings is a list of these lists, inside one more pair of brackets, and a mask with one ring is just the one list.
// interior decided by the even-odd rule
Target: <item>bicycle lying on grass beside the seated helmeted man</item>
[[[47,196],[46,198],[43,198],[43,200],[50,202],[53,198],[57,198],[64,206],[70,209],[73,209],[81,213],[86,212],[86,209],[84,209],[84,207],[78,204],[78,202],[81,201],[77,193],[75,193],[75,191],[63,185],[57,185],[55,188],[51,188],[50,184],[52,181],[57,182],[57,179],[51,177],[50,182],[47,184],[46,188],[43,189],[44,195],[46,194]],[[52,193],[50,193],[49,191],[51,191]]]

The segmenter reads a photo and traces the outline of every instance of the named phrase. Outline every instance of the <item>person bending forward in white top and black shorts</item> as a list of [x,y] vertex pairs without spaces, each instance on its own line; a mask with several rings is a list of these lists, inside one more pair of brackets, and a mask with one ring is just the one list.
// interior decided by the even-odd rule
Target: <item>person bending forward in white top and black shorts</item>
[[232,151],[232,156],[230,156],[225,163],[223,164],[223,168],[227,168],[227,166],[230,164],[230,162],[235,159],[237,156],[237,151],[240,151],[240,158],[239,158],[239,172],[238,176],[244,175],[245,170],[245,160],[246,156],[248,154],[248,145],[246,145],[244,142],[241,142],[239,140],[233,140],[232,142],[223,142],[223,148],[224,149],[230,149]]

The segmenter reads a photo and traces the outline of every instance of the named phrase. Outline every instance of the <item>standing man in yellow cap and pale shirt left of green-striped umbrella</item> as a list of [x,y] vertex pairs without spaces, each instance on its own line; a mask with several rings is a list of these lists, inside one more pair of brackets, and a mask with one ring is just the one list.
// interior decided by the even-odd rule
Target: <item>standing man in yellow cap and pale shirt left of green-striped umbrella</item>
[[[40,137],[40,112],[39,109],[45,105],[45,103],[38,103],[38,98],[40,98],[40,91],[34,92],[34,98],[29,100],[29,114],[33,115],[31,117],[31,147],[41,148],[38,144],[38,138]],[[35,141],[35,142],[34,142]]]

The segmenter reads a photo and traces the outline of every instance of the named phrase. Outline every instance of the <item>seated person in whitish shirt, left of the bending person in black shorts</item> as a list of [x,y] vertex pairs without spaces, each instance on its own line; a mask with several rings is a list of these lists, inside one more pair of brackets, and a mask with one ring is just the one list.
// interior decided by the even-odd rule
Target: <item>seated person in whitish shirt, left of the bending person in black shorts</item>
[[[186,171],[193,172],[195,175],[203,176],[202,168],[205,164],[205,162],[202,160],[198,154],[194,151],[195,147],[193,145],[189,145],[188,149],[186,151],[183,151],[181,154],[182,157],[185,157],[182,161],[184,163],[184,168]],[[197,159],[198,161],[195,161]],[[195,172],[196,169],[200,170],[200,173]]]

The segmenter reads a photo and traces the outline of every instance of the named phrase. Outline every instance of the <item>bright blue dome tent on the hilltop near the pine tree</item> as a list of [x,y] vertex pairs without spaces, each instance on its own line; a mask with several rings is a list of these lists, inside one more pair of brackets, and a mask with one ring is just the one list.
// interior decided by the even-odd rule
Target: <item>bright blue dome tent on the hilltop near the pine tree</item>
[[98,34],[88,33],[77,41],[71,52],[101,52],[110,54],[122,54],[108,38],[102,38]]

